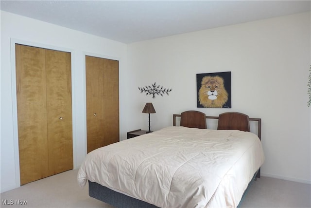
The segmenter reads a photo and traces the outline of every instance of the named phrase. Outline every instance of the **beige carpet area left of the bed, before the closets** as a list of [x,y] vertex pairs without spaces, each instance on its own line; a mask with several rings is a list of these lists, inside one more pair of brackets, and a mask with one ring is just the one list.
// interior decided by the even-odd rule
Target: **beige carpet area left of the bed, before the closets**
[[[88,186],[83,189],[77,183],[78,170],[69,170],[20,188],[1,193],[1,208],[112,208],[88,196]],[[3,200],[13,205],[4,205]],[[17,200],[17,201],[16,201]],[[18,200],[27,201],[18,205]],[[12,201],[11,201],[12,202]]]

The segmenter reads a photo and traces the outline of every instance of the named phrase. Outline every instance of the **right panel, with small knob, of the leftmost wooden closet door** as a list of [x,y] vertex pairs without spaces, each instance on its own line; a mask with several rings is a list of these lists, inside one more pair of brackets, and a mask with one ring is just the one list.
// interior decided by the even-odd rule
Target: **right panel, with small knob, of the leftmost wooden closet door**
[[46,50],[47,123],[50,175],[73,169],[71,57]]

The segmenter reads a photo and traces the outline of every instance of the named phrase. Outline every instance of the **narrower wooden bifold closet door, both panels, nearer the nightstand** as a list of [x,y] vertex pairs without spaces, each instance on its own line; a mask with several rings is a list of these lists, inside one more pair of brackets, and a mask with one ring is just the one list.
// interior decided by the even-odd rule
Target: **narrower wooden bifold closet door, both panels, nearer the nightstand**
[[119,61],[86,56],[87,153],[119,141]]

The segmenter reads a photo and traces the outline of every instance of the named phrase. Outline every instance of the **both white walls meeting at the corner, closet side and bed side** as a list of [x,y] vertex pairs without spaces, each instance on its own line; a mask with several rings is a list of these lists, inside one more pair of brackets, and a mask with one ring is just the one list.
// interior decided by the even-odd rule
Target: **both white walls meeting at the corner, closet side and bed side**
[[[1,192],[19,186],[14,43],[72,53],[74,167],[86,154],[84,55],[120,60],[120,134],[151,128],[173,113],[238,111],[262,118],[263,175],[310,183],[311,108],[307,108],[310,13],[265,19],[130,45],[1,11]],[[12,60],[11,60],[12,58]],[[196,108],[196,74],[232,72],[232,109]],[[140,94],[156,83],[170,95]]]

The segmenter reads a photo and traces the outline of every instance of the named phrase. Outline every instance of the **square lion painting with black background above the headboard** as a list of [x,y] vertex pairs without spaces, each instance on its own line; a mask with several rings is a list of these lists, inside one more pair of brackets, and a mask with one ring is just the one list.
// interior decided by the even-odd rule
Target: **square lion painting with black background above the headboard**
[[231,72],[196,75],[198,108],[231,108]]

